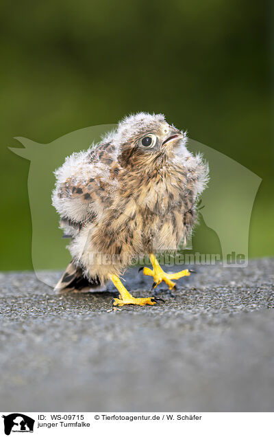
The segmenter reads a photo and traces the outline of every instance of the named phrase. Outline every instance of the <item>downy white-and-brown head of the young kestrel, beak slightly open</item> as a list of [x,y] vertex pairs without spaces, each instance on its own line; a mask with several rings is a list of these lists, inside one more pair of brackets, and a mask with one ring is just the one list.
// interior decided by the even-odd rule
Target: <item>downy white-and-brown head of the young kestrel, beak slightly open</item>
[[158,167],[186,144],[186,133],[166,122],[162,114],[138,113],[123,119],[112,137],[123,167]]

